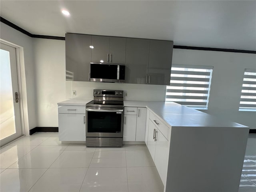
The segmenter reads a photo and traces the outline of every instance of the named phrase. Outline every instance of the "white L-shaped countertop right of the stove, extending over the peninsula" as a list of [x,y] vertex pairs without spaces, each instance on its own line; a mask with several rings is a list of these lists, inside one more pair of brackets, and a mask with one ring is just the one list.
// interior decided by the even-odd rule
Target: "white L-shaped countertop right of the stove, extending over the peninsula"
[[148,107],[172,127],[241,127],[247,126],[222,120],[174,102],[124,101],[124,106]]

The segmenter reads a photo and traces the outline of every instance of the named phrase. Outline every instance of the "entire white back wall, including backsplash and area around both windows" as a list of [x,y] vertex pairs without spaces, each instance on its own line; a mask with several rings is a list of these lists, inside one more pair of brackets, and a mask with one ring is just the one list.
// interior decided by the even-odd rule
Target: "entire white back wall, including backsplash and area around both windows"
[[[124,90],[124,100],[164,101],[166,86],[65,81],[65,42],[34,39],[38,126],[58,126],[57,102],[93,99],[93,89]],[[256,112],[239,112],[244,68],[256,68],[256,54],[174,49],[173,64],[214,66],[208,110],[203,112],[256,128]]]

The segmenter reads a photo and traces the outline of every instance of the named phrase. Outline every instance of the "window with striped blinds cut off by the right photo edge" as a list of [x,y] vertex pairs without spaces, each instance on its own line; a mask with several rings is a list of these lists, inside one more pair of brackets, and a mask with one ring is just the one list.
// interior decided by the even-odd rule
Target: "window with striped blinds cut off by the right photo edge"
[[245,69],[239,111],[256,111],[256,70]]

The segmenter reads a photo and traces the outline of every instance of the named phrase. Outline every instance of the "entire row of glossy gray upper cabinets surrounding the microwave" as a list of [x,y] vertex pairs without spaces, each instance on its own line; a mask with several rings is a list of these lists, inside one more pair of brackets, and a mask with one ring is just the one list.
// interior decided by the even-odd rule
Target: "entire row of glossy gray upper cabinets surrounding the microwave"
[[66,34],[66,80],[90,81],[90,62],[125,64],[125,83],[170,85],[173,41]]

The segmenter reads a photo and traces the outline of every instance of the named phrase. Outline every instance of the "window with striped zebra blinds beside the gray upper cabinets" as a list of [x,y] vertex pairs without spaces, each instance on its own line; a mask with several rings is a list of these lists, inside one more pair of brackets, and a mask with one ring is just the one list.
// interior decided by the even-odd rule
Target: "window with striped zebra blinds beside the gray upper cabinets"
[[212,66],[173,64],[170,86],[166,87],[166,101],[194,109],[207,109],[212,70]]

